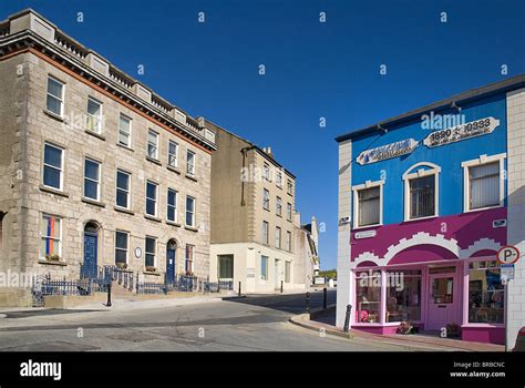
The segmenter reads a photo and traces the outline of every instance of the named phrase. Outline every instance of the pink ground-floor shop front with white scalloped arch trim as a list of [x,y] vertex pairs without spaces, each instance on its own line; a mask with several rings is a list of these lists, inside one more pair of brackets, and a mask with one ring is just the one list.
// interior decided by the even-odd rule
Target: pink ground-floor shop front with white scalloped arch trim
[[[352,328],[504,344],[504,287],[496,253],[506,208],[351,233]],[[424,231],[424,232],[422,232]]]

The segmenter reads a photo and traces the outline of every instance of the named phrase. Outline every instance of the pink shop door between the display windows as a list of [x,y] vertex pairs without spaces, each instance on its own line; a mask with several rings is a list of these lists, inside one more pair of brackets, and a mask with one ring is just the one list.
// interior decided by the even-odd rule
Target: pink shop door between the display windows
[[447,324],[461,324],[457,289],[456,267],[430,268],[425,331],[441,330]]

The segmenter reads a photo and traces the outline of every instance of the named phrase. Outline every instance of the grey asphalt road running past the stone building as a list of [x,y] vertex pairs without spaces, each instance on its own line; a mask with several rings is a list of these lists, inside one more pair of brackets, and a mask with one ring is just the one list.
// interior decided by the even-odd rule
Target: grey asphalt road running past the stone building
[[[336,294],[329,293],[329,303]],[[320,306],[322,293],[312,293]],[[321,336],[288,319],[302,313],[305,295],[249,296],[192,305],[141,308],[20,310],[0,318],[0,350],[126,351],[378,351],[385,344]]]

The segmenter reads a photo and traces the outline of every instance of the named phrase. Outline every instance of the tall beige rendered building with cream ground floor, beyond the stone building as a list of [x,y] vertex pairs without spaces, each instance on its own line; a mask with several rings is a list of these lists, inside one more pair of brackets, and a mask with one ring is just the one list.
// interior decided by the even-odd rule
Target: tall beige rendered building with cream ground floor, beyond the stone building
[[295,176],[260,149],[208,121],[212,159],[210,280],[243,293],[295,288]]

